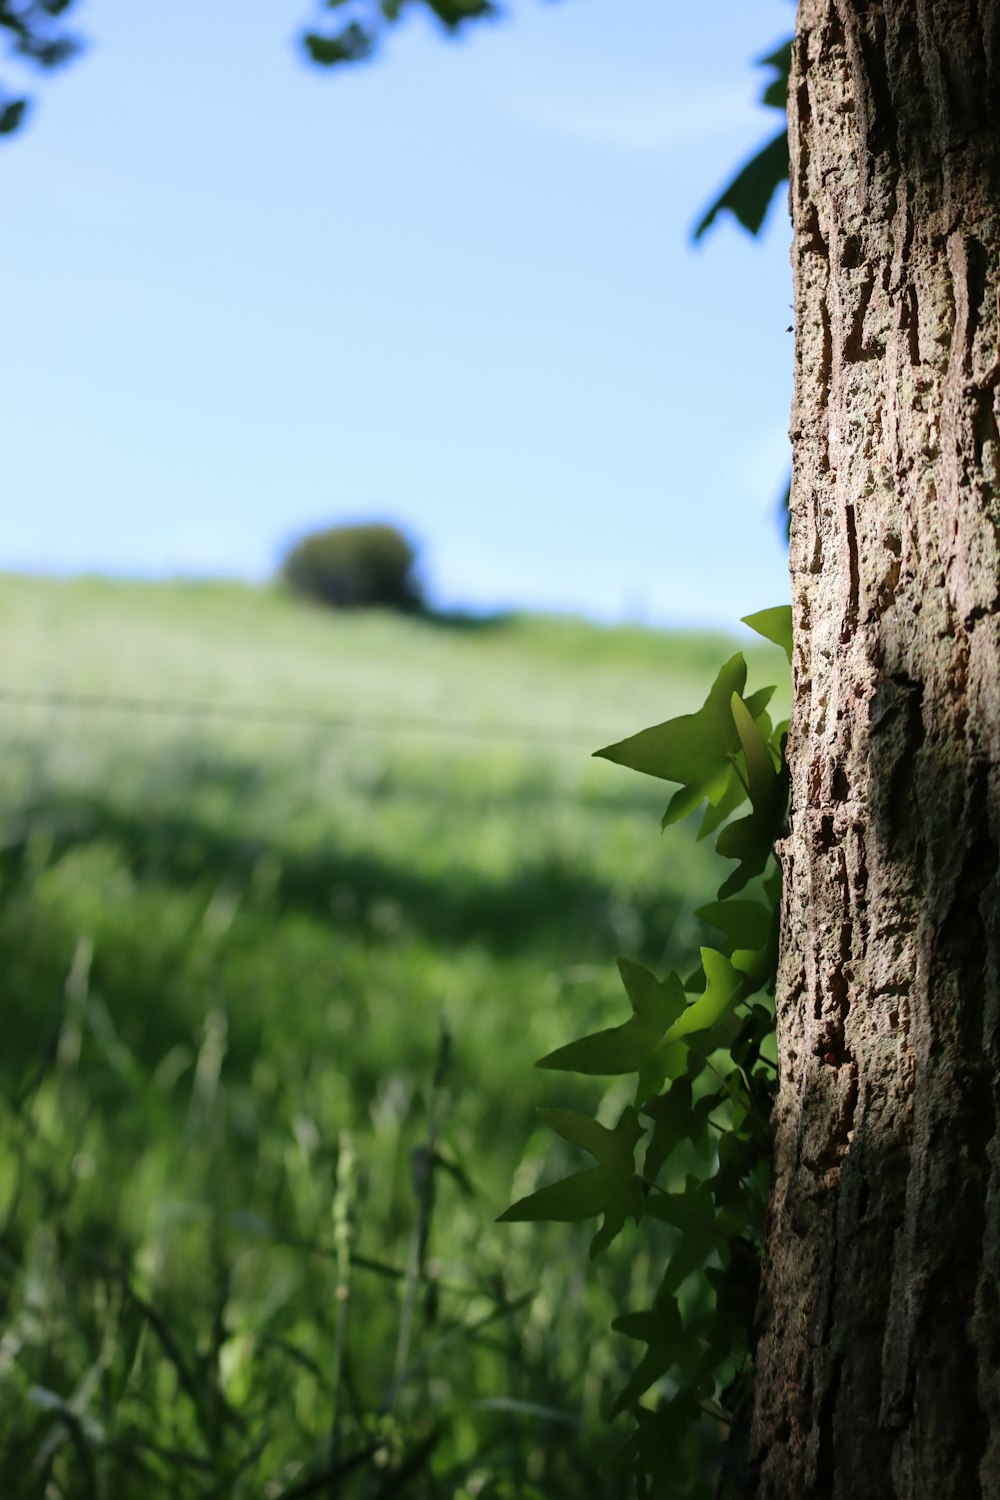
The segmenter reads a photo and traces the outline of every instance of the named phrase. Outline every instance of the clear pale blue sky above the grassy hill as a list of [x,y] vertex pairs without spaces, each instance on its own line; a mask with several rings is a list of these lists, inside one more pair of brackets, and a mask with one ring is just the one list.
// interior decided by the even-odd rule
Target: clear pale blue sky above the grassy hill
[[[267,578],[393,519],[439,603],[732,624],[787,597],[789,0],[511,0],[319,72],[313,0],[81,0],[0,144],[0,567]],[[13,82],[4,64],[4,81]]]

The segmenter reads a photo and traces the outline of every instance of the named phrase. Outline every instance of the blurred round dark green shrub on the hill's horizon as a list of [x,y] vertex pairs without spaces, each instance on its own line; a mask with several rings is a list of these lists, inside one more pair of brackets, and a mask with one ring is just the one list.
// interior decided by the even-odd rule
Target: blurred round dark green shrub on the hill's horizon
[[297,542],[282,564],[295,592],[334,609],[418,609],[417,554],[406,537],[379,522],[328,526]]

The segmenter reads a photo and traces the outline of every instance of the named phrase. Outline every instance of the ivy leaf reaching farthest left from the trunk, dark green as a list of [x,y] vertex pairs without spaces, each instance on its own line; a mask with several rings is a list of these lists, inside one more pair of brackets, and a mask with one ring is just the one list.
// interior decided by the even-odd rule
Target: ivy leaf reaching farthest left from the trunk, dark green
[[576,1222],[603,1214],[604,1222],[591,1240],[591,1260],[594,1260],[621,1233],[627,1218],[639,1222],[642,1216],[636,1144],[645,1130],[631,1106],[622,1112],[615,1130],[607,1130],[606,1125],[576,1110],[538,1110],[538,1114],[570,1144],[589,1152],[598,1166],[574,1172],[570,1178],[511,1203],[498,1222],[537,1220]]

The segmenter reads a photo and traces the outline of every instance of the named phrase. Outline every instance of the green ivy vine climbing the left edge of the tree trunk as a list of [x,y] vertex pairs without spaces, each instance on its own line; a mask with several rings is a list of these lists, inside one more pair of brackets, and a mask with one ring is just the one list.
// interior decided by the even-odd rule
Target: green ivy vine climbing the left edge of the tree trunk
[[[792,610],[745,620],[792,657]],[[615,1464],[639,1492],[691,1497],[691,1464],[706,1418],[721,1424],[715,1492],[738,1496],[753,1382],[753,1316],[775,1090],[774,986],[781,872],[775,842],[787,818],[786,723],[772,724],[774,687],[745,693],[742,654],[720,670],[694,714],[667,720],[597,754],[679,783],[663,825],[705,807],[699,837],[736,861],[717,900],[697,915],[718,933],[690,975],[658,978],[618,966],[631,1006],[619,1026],[543,1058],[540,1068],[591,1076],[634,1074],[636,1092],[613,1126],[574,1110],[543,1119],[594,1166],[511,1204],[504,1220],[600,1218],[591,1258],[627,1221],[666,1236],[652,1305],[625,1311],[616,1332],[645,1346],[613,1413],[634,1428]],[[739,816],[738,816],[739,814]]]

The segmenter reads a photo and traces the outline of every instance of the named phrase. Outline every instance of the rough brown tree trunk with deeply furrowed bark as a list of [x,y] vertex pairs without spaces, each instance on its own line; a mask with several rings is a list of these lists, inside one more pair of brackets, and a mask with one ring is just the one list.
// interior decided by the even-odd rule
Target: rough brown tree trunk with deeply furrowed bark
[[801,0],[754,1473],[1000,1496],[1000,0]]

